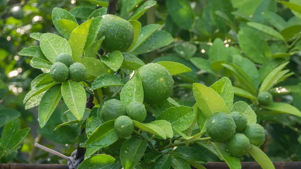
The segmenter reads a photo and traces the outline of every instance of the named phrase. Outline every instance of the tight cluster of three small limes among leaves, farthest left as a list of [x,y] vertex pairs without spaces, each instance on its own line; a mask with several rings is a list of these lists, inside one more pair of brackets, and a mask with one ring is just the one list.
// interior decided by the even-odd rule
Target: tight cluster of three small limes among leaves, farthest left
[[82,63],[73,62],[72,56],[60,54],[50,68],[50,76],[56,82],[64,82],[68,78],[81,82],[86,79],[86,68]]

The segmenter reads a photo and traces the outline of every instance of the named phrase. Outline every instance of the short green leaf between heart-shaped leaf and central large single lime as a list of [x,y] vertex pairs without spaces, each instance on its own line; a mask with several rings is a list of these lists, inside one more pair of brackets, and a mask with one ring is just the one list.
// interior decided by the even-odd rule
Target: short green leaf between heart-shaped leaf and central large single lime
[[136,56],[130,53],[122,53],[122,55],[123,55],[123,62],[121,68],[136,70],[139,67],[145,65],[141,59],[137,58]]

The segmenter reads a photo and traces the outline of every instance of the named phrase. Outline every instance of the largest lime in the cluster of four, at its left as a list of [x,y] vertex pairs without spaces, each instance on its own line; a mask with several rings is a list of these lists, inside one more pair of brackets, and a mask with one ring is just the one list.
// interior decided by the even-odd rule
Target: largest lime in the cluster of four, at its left
[[219,112],[209,117],[206,128],[211,138],[218,142],[224,142],[235,133],[236,125],[230,114]]

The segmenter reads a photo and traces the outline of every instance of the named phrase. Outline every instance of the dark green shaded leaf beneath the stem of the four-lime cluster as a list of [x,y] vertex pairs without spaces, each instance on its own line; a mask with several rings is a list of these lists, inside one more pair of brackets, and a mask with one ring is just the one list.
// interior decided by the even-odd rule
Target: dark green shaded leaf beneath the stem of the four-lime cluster
[[172,151],[172,154],[193,162],[207,163],[206,155],[199,149],[181,146]]

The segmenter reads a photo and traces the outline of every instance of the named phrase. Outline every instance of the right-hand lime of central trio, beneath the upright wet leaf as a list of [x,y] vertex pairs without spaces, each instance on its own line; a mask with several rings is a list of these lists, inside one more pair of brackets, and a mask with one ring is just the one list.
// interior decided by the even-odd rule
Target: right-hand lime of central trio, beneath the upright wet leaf
[[146,109],[143,103],[132,101],[126,106],[127,116],[132,120],[142,122],[146,117]]

